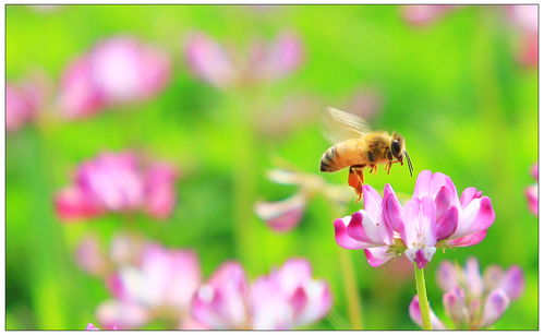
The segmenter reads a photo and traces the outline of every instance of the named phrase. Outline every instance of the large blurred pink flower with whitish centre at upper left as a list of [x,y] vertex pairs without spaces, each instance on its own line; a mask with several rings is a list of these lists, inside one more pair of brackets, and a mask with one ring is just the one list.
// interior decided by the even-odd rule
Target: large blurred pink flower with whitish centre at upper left
[[58,108],[65,118],[82,118],[142,101],[166,85],[169,73],[170,61],[161,50],[134,37],[110,37],[68,65]]

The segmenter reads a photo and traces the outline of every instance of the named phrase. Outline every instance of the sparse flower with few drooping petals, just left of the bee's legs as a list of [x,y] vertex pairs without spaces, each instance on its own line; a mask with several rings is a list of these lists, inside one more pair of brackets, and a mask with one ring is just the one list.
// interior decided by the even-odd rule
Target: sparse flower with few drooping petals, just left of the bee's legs
[[276,201],[257,201],[255,213],[263,219],[270,229],[277,232],[286,232],[299,225],[310,199],[322,193],[330,201],[347,203],[351,192],[344,188],[327,184],[319,176],[312,174],[301,174],[290,170],[273,169],[268,178],[280,184],[295,184],[299,190],[293,195]]

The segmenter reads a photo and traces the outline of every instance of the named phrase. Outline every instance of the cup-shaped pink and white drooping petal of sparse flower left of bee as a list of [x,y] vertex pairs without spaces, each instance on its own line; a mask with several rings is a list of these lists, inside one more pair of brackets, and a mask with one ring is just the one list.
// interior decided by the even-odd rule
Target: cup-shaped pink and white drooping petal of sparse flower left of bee
[[306,198],[297,193],[278,202],[257,202],[255,212],[273,230],[283,232],[300,223],[305,206]]

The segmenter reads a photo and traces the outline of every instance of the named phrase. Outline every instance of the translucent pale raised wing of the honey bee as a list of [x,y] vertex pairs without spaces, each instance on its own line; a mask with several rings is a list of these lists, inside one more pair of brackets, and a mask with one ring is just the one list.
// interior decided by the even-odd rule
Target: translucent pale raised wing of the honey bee
[[361,117],[334,107],[327,107],[327,111],[324,118],[325,137],[333,144],[361,137],[371,132],[368,123]]

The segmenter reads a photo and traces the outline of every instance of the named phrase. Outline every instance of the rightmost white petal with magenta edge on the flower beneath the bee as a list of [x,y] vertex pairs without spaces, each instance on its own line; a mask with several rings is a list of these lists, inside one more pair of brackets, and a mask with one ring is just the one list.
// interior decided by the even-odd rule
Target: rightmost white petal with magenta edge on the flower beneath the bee
[[487,196],[474,199],[460,213],[456,232],[450,238],[457,239],[481,232],[489,228],[494,220],[495,211],[491,199]]

